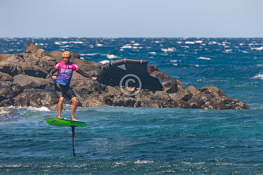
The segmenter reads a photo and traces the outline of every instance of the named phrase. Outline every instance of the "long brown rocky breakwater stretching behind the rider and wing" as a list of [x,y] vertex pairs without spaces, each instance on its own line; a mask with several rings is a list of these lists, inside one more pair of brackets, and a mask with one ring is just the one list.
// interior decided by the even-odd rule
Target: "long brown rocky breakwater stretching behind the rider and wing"
[[[54,89],[54,80],[48,73],[62,61],[61,51],[45,52],[34,43],[27,43],[25,53],[16,53],[0,62],[0,107],[32,106],[48,107],[56,110],[58,98]],[[90,74],[97,76],[101,63],[80,59],[79,54],[72,53],[71,62]],[[187,109],[250,109],[238,99],[228,98],[217,87],[208,86],[195,89],[171,76],[160,72],[155,65],[148,65],[150,75],[159,76],[164,91],[146,92],[140,90],[134,96],[125,95],[119,87],[111,87],[86,79],[74,72],[71,81],[79,100],[78,106],[95,105],[155,107],[155,108],[187,108]],[[129,92],[129,91],[127,91]],[[71,100],[65,97],[65,104]]]

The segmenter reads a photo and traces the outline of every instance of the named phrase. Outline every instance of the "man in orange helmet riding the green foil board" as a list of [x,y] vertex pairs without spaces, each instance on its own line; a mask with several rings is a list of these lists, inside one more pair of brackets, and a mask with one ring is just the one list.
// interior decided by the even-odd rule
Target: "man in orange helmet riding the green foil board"
[[[96,80],[97,78],[92,77],[89,74],[83,72],[82,70],[79,69],[77,65],[70,62],[69,60],[71,59],[71,53],[69,51],[63,52],[62,58],[63,58],[63,61],[56,64],[56,66],[49,73],[49,76],[51,77],[51,79],[56,80],[55,90],[56,90],[56,95],[59,98],[59,103],[57,106],[58,118],[61,118],[61,111],[62,111],[62,106],[64,102],[64,94],[65,94],[69,99],[71,99],[73,103],[71,107],[70,119],[76,120],[74,119],[74,114],[77,109],[78,99],[75,93],[73,92],[73,90],[69,87],[73,70],[75,70],[77,73],[81,74],[84,77],[91,78],[94,80]],[[53,75],[56,71],[58,71],[58,76]]]

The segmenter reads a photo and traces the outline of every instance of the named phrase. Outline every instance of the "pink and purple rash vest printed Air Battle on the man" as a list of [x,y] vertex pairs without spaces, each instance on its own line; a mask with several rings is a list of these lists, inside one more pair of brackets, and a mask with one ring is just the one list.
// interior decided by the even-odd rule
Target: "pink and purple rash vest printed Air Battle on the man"
[[65,64],[64,61],[56,64],[55,68],[58,70],[58,76],[56,82],[59,84],[68,86],[72,77],[73,70],[79,70],[79,67],[72,62]]

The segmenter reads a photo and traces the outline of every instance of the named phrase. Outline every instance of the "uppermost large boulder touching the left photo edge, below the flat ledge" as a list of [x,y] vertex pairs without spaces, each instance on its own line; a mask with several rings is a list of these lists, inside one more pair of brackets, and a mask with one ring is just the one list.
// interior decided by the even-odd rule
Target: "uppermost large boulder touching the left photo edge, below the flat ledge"
[[16,64],[16,63],[0,62],[0,72],[7,73],[10,76],[16,76],[19,74],[25,75],[25,72],[19,63]]

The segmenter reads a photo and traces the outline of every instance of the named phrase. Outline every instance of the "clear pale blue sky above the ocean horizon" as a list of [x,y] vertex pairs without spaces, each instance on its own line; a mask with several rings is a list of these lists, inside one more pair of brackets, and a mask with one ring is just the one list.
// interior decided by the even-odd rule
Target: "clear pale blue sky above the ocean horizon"
[[0,0],[5,37],[263,37],[262,0]]

